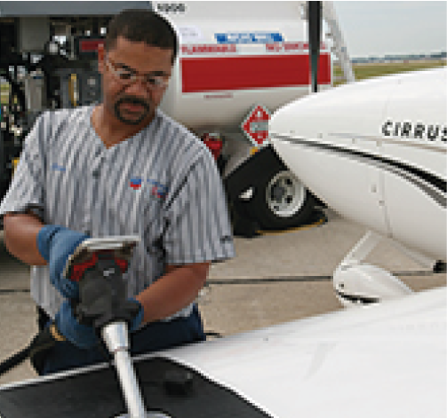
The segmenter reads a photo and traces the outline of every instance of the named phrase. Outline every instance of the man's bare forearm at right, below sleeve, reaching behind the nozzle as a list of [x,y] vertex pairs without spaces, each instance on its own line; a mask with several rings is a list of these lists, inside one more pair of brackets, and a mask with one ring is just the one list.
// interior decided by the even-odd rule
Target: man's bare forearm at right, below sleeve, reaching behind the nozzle
[[194,302],[208,276],[210,263],[168,267],[168,271],[136,298],[144,307],[144,322],[164,319]]

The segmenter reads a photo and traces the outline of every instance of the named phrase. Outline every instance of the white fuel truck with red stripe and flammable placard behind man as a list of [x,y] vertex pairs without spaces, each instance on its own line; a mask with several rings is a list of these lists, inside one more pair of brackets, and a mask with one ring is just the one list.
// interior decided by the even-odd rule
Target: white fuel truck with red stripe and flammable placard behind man
[[[249,233],[307,224],[320,202],[267,130],[276,108],[310,92],[307,2],[0,1],[0,197],[39,114],[100,101],[98,44],[127,8],[155,10],[176,29],[180,51],[161,107],[211,149],[234,219]],[[347,81],[353,73],[331,2],[322,16],[323,90],[334,59]]]

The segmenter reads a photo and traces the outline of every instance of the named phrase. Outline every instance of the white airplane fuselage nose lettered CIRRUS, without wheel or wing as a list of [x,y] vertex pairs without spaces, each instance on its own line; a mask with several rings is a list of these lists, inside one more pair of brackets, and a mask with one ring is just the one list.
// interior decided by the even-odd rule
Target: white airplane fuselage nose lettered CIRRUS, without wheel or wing
[[445,259],[446,82],[442,67],[296,100],[272,116],[273,146],[341,216]]

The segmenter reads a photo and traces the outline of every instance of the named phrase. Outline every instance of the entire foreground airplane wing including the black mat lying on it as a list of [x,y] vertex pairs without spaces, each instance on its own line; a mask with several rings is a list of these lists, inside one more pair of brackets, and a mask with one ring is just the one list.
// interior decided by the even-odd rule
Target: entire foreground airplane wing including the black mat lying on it
[[[137,375],[157,417],[443,417],[446,300],[435,288],[162,351]],[[0,388],[2,418],[123,411],[108,365]]]

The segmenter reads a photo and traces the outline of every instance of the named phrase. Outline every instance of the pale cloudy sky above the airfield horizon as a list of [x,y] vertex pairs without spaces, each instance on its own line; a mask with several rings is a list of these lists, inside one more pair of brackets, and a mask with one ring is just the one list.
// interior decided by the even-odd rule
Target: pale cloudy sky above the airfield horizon
[[447,51],[447,1],[333,5],[351,59]]

